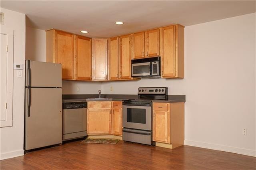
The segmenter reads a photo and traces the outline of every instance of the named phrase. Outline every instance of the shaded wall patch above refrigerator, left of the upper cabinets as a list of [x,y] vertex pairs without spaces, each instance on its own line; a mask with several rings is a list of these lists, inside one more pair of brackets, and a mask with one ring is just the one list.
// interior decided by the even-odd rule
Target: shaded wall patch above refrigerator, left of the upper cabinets
[[46,61],[46,33],[44,30],[26,27],[26,59]]

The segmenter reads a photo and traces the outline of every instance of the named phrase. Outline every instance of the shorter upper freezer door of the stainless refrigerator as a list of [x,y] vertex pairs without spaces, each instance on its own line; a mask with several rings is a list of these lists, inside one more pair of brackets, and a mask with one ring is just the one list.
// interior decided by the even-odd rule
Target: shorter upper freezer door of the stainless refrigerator
[[61,64],[26,60],[26,87],[62,87]]

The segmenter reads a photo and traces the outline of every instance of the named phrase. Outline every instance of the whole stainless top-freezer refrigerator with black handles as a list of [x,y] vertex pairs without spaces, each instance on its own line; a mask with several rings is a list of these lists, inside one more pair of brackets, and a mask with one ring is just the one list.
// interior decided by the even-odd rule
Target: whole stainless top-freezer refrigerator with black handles
[[62,143],[61,64],[26,60],[24,150]]

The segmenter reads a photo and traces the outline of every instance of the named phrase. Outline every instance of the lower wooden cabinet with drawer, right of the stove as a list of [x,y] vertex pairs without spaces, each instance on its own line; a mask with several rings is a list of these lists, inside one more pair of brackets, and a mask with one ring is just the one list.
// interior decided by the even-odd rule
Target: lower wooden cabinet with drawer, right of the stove
[[172,148],[184,144],[183,102],[153,103],[153,140]]

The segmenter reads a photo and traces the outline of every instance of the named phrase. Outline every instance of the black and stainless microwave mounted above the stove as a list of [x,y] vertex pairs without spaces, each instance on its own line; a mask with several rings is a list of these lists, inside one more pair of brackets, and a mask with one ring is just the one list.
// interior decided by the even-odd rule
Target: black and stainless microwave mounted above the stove
[[132,60],[132,77],[160,78],[161,57]]

